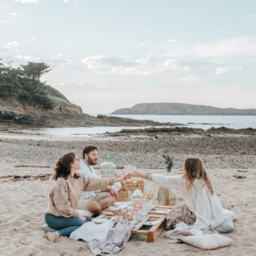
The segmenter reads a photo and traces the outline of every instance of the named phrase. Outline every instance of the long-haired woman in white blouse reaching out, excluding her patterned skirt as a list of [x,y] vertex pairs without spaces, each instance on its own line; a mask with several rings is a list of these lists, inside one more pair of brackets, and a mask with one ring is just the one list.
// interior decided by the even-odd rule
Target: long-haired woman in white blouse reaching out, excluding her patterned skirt
[[199,158],[186,158],[182,175],[163,176],[134,171],[134,176],[152,180],[165,188],[179,189],[189,210],[196,216],[193,228],[216,228],[223,223],[223,207]]

